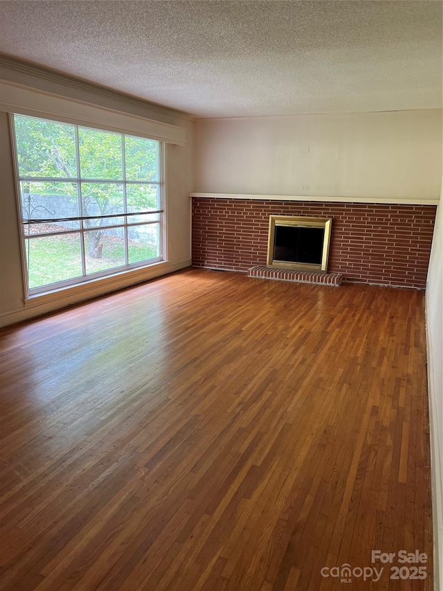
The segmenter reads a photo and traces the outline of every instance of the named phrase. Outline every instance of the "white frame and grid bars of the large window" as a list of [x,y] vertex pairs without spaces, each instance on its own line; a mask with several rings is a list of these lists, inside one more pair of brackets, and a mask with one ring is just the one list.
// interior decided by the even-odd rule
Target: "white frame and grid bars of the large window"
[[[77,152],[77,175],[75,178],[52,178],[52,177],[26,177],[23,176],[21,177],[19,175],[19,167],[18,167],[18,162],[17,162],[17,144],[16,144],[16,134],[15,134],[15,121],[14,121],[14,117],[15,115],[17,116],[28,116],[28,117],[32,117],[32,118],[37,118],[40,120],[44,120],[44,121],[52,121],[53,123],[68,123],[69,125],[74,125],[76,127],[75,130],[75,150]],[[48,117],[46,116],[46,114],[37,114],[37,113],[33,113],[33,114],[28,114],[23,112],[22,109],[20,109],[20,111],[15,111],[15,112],[10,112],[9,113],[9,118],[10,118],[10,130],[11,130],[11,141],[12,141],[12,151],[13,151],[13,159],[14,159],[14,168],[15,168],[15,182],[16,182],[16,186],[17,186],[17,190],[16,190],[16,196],[17,196],[17,210],[19,212],[19,225],[20,225],[20,235],[21,235],[21,252],[22,252],[22,269],[23,269],[23,274],[24,274],[24,288],[25,288],[25,299],[28,299],[30,297],[33,296],[37,296],[37,295],[42,295],[42,294],[47,294],[48,292],[53,292],[53,291],[57,291],[57,290],[64,290],[67,288],[73,288],[75,286],[79,286],[85,283],[89,283],[90,281],[95,281],[96,279],[105,279],[105,278],[109,278],[112,277],[114,275],[118,275],[118,274],[122,274],[122,273],[129,273],[133,270],[138,270],[138,269],[143,269],[143,268],[148,268],[151,267],[152,265],[155,265],[156,263],[161,263],[164,261],[167,261],[167,256],[168,253],[166,252],[166,245],[167,245],[167,227],[166,227],[166,216],[165,216],[165,211],[166,211],[166,191],[165,191],[165,142],[161,141],[159,139],[156,138],[148,138],[145,134],[137,134],[134,133],[133,131],[124,131],[124,130],[116,130],[116,129],[106,129],[105,126],[96,126],[93,123],[81,123],[80,121],[75,121],[75,123],[70,119],[70,118],[64,118],[64,117],[57,117],[57,119],[53,118],[53,117]],[[122,136],[122,144],[123,144],[123,151],[122,151],[122,159],[123,159],[123,179],[122,180],[118,180],[118,179],[89,179],[89,178],[82,178],[81,175],[79,175],[79,159],[78,159],[78,127],[86,127],[88,129],[91,130],[97,130],[97,131],[105,131],[105,132],[110,132],[110,133],[115,133],[115,134],[120,134]],[[125,151],[124,151],[124,145],[125,145],[125,141],[124,138],[125,136],[130,136],[130,137],[141,137],[143,139],[152,139],[154,141],[157,141],[159,143],[159,161],[157,162],[157,170],[158,170],[158,180],[157,181],[127,181],[127,179],[125,178]],[[51,233],[35,233],[32,235],[26,235],[24,229],[26,226],[26,222],[24,222],[24,218],[22,215],[22,203],[21,203],[21,182],[22,181],[29,181],[29,182],[69,182],[72,184],[77,184],[79,187],[79,207],[80,207],[80,213],[78,218],[70,218],[73,221],[79,220],[80,221],[80,227],[76,228],[76,229],[66,229],[66,231],[60,231],[60,232],[51,232]],[[127,185],[140,185],[140,184],[149,184],[149,185],[156,185],[157,186],[157,191],[158,191],[158,202],[160,204],[159,209],[155,210],[155,211],[149,211],[147,213],[158,213],[159,215],[159,220],[158,221],[148,221],[148,222],[134,222],[134,225],[140,226],[140,225],[152,225],[152,224],[158,224],[159,227],[159,256],[156,258],[152,258],[152,259],[147,259],[145,261],[139,261],[137,263],[128,263],[125,265],[122,265],[120,267],[112,267],[111,269],[107,269],[107,270],[102,270],[102,271],[98,271],[95,273],[89,273],[86,274],[86,269],[85,269],[85,247],[84,247],[84,236],[86,236],[88,231],[88,229],[85,229],[82,223],[82,220],[84,220],[84,216],[82,216],[82,211],[81,211],[81,193],[80,193],[80,185],[81,183],[87,182],[87,183],[97,183],[97,184],[122,184],[125,186],[124,188],[124,193],[126,193],[126,186]],[[93,219],[97,219],[97,218],[111,218],[112,215],[94,215],[94,216],[90,216]],[[135,214],[135,215],[140,215],[140,214]],[[105,230],[106,229],[112,229],[112,228],[123,228],[125,231],[125,260],[127,260],[128,258],[128,247],[127,247],[127,228],[131,227],[131,223],[128,222],[128,218],[131,218],[132,215],[128,214],[128,213],[118,213],[115,214],[116,217],[118,218],[124,218],[125,222],[124,223],[119,223],[114,225],[107,225],[105,227],[103,227]],[[56,218],[58,219],[58,218]],[[54,220],[53,220],[54,221]],[[41,222],[41,220],[36,220],[35,223]],[[57,235],[66,235],[68,233],[79,233],[80,234],[80,244],[81,244],[81,256],[82,256],[82,275],[81,276],[77,276],[73,279],[66,279],[63,281],[57,281],[55,283],[49,283],[47,285],[42,285],[40,287],[37,288],[29,288],[29,279],[28,279],[28,262],[27,262],[27,258],[26,258],[26,240],[32,240],[33,238],[39,238],[42,236],[57,236]],[[32,236],[32,238],[31,238]]]

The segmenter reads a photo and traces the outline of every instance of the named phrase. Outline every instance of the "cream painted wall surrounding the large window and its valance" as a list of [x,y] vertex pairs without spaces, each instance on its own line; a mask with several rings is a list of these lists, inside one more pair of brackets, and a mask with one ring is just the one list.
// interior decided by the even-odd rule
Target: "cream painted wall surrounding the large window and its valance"
[[26,87],[45,91],[57,96],[82,100],[85,103],[107,107],[119,112],[150,118],[171,125],[186,128],[186,145],[166,145],[166,188],[168,193],[168,261],[134,270],[127,274],[101,279],[91,283],[47,294],[39,298],[24,301],[24,283],[21,270],[21,250],[15,179],[12,168],[12,151],[8,114],[0,111],[0,326],[11,322],[50,312],[105,292],[132,285],[146,279],[152,279],[190,265],[190,199],[192,190],[192,158],[194,123],[174,113],[163,110],[143,108],[130,101],[101,96],[96,91],[87,91],[77,87],[63,85],[60,82],[45,80],[3,68],[1,78]]

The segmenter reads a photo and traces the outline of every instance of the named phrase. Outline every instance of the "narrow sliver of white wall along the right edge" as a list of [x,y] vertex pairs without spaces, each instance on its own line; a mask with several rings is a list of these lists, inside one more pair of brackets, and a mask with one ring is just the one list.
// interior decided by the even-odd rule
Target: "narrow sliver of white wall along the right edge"
[[435,589],[443,589],[443,179],[426,285]]

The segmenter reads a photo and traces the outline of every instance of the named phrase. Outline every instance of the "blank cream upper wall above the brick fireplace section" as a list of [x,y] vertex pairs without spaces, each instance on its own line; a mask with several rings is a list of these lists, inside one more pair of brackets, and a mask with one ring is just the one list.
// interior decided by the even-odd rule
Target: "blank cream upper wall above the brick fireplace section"
[[439,110],[196,121],[198,193],[437,199],[441,176]]

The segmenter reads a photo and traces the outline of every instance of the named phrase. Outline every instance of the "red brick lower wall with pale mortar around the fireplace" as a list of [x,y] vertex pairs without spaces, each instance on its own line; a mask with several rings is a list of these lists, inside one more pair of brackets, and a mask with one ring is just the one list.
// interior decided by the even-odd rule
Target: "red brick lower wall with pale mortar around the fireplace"
[[269,215],[332,218],[329,272],[345,281],[424,288],[436,206],[192,197],[192,264],[266,265]]

